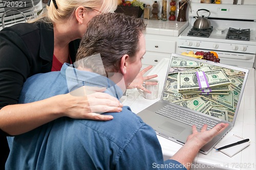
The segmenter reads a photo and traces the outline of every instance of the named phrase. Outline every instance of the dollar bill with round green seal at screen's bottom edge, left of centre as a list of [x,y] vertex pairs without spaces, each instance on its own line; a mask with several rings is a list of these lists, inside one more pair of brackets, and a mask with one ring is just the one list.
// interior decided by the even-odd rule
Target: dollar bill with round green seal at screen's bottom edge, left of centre
[[211,108],[210,101],[205,102],[205,100],[203,100],[202,98],[196,98],[187,101],[177,101],[173,103],[190,108],[192,110],[199,111],[201,113],[206,113]]

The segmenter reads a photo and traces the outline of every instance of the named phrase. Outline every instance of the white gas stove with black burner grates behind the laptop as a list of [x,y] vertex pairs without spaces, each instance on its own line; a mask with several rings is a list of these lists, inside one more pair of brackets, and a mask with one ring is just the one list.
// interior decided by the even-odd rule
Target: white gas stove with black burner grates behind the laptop
[[[209,30],[193,27],[199,9],[210,11]],[[179,36],[179,54],[215,51],[223,64],[256,66],[256,6],[191,3],[191,11],[189,25]],[[203,10],[198,13],[207,15]]]

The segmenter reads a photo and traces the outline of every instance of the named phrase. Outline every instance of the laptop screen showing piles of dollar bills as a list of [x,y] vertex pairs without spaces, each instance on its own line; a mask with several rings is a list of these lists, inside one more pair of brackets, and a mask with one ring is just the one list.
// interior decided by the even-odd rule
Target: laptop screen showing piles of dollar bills
[[232,122],[240,104],[246,72],[220,65],[173,56],[162,99]]

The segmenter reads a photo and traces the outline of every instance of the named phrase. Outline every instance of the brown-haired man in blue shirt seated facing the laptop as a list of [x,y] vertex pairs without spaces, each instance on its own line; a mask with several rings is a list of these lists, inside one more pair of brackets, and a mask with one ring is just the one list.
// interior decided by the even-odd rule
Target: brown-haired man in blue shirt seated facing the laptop
[[[143,20],[123,14],[94,17],[81,40],[74,65],[60,72],[31,77],[20,95],[21,103],[67,93],[89,93],[88,86],[105,87],[120,99],[141,68],[145,53]],[[100,56],[100,57],[99,57]],[[81,90],[86,89],[86,90]],[[104,113],[103,113],[104,114]],[[164,161],[155,131],[129,107],[108,113],[108,122],[62,117],[26,134],[9,138],[7,169],[156,169],[168,165],[190,168],[199,149],[222,132],[225,124],[193,134],[171,159]],[[167,166],[166,166],[167,165]]]

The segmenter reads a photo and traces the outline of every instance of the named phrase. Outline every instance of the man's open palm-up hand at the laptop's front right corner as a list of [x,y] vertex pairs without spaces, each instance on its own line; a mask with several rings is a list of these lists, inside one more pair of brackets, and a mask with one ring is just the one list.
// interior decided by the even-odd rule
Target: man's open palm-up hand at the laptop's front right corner
[[217,124],[214,128],[207,131],[207,125],[204,125],[201,132],[198,132],[196,126],[193,125],[193,134],[187,137],[187,142],[194,142],[195,145],[198,145],[198,147],[201,148],[203,147],[203,145],[208,143],[212,138],[220,134],[226,127],[228,127],[228,124],[221,123]]

